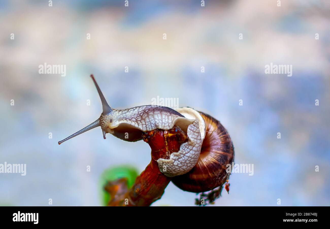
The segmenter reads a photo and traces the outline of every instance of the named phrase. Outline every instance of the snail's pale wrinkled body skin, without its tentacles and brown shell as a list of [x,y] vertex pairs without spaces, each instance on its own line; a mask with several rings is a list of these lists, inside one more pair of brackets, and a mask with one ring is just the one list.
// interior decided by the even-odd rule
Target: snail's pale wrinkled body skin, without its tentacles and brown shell
[[204,120],[197,111],[189,107],[179,108],[178,111],[153,105],[125,110],[113,109],[107,115],[102,114],[99,120],[104,135],[110,133],[123,140],[128,139],[117,133],[117,130],[123,126],[128,133],[130,130],[133,133],[133,129],[146,132],[155,129],[169,130],[179,126],[187,133],[188,140],[182,143],[178,152],[170,155],[170,159],[157,160],[159,170],[169,177],[182,175],[195,166],[205,136]]

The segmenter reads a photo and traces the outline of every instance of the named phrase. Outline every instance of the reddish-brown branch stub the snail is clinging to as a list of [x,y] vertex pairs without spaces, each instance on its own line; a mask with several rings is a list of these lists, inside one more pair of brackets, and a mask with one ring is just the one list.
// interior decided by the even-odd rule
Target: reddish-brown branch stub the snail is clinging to
[[160,172],[156,160],[168,159],[171,153],[179,151],[186,139],[187,135],[179,127],[168,131],[157,129],[145,132],[143,140],[151,148],[151,162],[136,178],[131,189],[128,190],[125,178],[106,185],[105,190],[111,196],[108,206],[149,206],[160,199],[171,178]]

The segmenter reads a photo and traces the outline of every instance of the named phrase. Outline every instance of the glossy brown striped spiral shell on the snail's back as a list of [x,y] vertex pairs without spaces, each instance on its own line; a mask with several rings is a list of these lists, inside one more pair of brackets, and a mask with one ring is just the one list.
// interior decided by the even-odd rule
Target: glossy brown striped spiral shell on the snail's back
[[196,165],[172,182],[188,192],[206,192],[222,186],[227,178],[226,165],[234,161],[234,146],[227,130],[212,116],[200,112],[206,133]]

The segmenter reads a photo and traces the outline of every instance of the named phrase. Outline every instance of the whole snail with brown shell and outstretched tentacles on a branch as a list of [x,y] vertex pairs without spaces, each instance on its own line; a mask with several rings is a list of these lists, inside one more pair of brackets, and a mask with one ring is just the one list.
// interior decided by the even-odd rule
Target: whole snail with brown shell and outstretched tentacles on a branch
[[190,107],[174,110],[144,105],[117,110],[109,106],[94,76],[91,78],[101,98],[102,114],[58,144],[96,127],[101,127],[104,139],[110,133],[131,142],[148,141],[146,133],[152,136],[156,130],[162,130],[169,136],[172,130],[174,133],[182,130],[186,138],[180,142],[179,150],[171,153],[165,150],[161,158],[154,159],[159,171],[180,189],[195,193],[222,187],[228,180],[226,165],[234,160],[234,147],[227,130],[218,120]]

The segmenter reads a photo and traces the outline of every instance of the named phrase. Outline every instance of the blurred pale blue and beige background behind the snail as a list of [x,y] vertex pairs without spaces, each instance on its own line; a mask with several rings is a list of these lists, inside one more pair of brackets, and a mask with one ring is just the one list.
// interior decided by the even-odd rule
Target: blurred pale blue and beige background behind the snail
[[[214,206],[329,206],[330,2],[278,2],[0,0],[0,164],[26,164],[0,173],[0,205],[101,206],[104,171],[149,164],[148,144],[100,128],[57,144],[100,116],[93,73],[114,108],[178,98],[221,121],[254,174],[232,174]],[[152,206],[195,197],[170,183]]]

